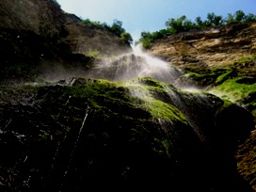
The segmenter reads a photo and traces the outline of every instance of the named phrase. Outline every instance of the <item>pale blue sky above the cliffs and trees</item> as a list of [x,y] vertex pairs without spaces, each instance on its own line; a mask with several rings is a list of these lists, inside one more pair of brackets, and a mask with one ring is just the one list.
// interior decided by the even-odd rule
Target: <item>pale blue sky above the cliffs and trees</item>
[[224,18],[228,13],[243,10],[246,14],[256,14],[255,0],[57,0],[61,8],[82,19],[113,24],[115,19],[134,40],[142,31],[154,32],[166,28],[169,18],[183,15],[194,22],[200,16],[214,12]]

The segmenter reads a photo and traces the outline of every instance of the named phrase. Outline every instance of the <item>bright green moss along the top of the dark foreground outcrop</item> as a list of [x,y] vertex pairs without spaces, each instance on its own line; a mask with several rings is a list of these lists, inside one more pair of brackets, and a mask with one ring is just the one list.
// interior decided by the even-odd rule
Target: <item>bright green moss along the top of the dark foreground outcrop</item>
[[135,117],[142,120],[148,117],[187,124],[183,113],[166,102],[169,100],[166,87],[173,88],[152,78],[137,78],[127,82],[76,78],[72,86],[56,83],[51,86],[23,84],[16,86],[16,90],[32,95],[38,91],[42,94],[51,92],[51,95],[54,94],[54,97],[58,98],[59,104],[65,104],[68,98],[71,98],[73,103],[83,101],[85,107],[90,106],[95,113],[103,114],[105,118],[122,114],[127,120]]

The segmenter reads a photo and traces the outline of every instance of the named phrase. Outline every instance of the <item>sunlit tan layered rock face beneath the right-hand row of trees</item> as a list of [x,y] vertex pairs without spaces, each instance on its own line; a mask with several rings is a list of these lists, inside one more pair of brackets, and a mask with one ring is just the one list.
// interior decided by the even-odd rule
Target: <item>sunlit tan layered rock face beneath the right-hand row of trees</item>
[[179,33],[155,40],[149,51],[180,67],[223,66],[256,51],[256,24],[230,24]]

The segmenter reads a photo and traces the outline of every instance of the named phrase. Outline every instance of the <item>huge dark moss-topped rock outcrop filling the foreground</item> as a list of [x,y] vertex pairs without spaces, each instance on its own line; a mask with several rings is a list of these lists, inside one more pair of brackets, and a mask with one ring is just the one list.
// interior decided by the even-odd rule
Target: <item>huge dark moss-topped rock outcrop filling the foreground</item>
[[211,94],[72,78],[2,86],[1,98],[1,191],[251,191],[234,152],[252,117]]

